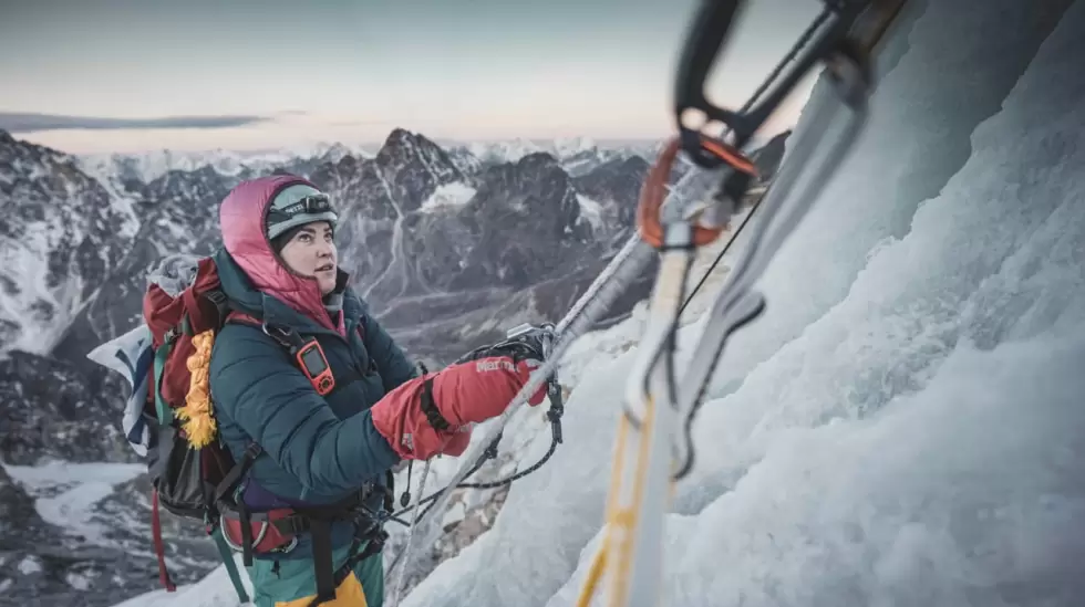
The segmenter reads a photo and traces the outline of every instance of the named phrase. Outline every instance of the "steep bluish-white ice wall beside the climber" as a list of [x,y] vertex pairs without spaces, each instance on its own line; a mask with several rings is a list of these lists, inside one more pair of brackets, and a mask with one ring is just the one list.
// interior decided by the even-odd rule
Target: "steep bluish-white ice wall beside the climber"
[[[899,31],[907,45],[901,39],[892,42],[900,54],[890,57],[892,69],[872,100],[864,137],[763,281],[769,313],[728,348],[712,396],[731,397],[710,402],[702,414],[702,464],[682,485],[676,504],[700,514],[672,520],[675,561],[668,604],[737,605],[745,598],[768,605],[796,597],[810,604],[878,604],[887,596],[908,604],[919,598],[899,593],[921,573],[938,572],[917,564],[924,551],[938,554],[944,547],[924,543],[922,530],[953,537],[947,526],[928,525],[976,504],[1020,494],[1017,507],[1025,509],[1036,498],[1038,484],[996,482],[1008,463],[1008,456],[986,459],[996,440],[962,450],[949,439],[955,436],[952,429],[971,427],[971,418],[976,430],[962,440],[982,437],[983,428],[1010,415],[1022,398],[1022,390],[1003,387],[998,401],[988,398],[989,390],[965,400],[976,376],[1004,377],[1017,387],[1043,385],[1036,374],[1050,381],[1067,370],[1067,365],[1052,366],[1051,358],[1026,364],[1047,346],[1015,344],[989,352],[994,344],[1009,335],[1050,331],[1056,323],[1071,326],[1077,320],[1074,310],[1085,307],[1067,282],[1081,268],[1071,262],[1082,240],[1073,231],[1044,232],[1081,228],[1081,216],[1064,203],[1075,187],[1068,167],[1082,161],[1071,156],[1076,143],[1065,139],[1077,142],[1081,123],[1070,125],[1081,117],[1064,114],[1065,124],[1056,121],[1058,129],[1043,134],[1022,123],[1067,111],[1073,104],[1061,102],[1064,97],[1081,98],[1071,83],[1074,70],[1081,70],[1073,62],[1082,53],[1064,49],[1066,64],[1055,65],[1050,57],[1060,55],[1051,51],[1057,41],[1051,42],[1044,61],[1033,65],[1033,84],[1017,85],[1012,108],[1001,112],[1065,6],[1047,3],[1037,11],[1014,1],[939,1],[912,14],[911,27]],[[1079,24],[1081,7],[1075,10],[1077,19],[1063,23],[1064,45],[1073,41],[1066,32]],[[1034,12],[1046,17],[1030,17]],[[1060,139],[1065,142],[1051,154]],[[1067,263],[1053,274],[1019,280],[1021,272],[1035,273],[1035,257],[1050,253],[1056,242]],[[1010,268],[1017,273],[1008,273]],[[984,349],[970,349],[973,337]],[[1050,348],[1062,348],[1064,356],[1081,349],[1073,342]],[[599,530],[613,420],[630,357],[621,355],[609,369],[581,380],[568,405],[572,433],[548,469],[518,481],[493,531],[438,567],[404,605],[571,603],[580,578],[577,574],[569,582],[575,555]],[[1014,376],[1001,371],[1008,367],[1015,368]],[[1072,411],[1065,397],[1074,388],[1051,390],[1043,406],[1053,416]],[[980,412],[988,417],[976,417]],[[1011,419],[1021,425],[1030,416],[1019,411]],[[1074,419],[1061,421],[1056,426],[1064,431],[1056,433],[1048,433],[1051,423],[1035,423],[1021,449],[1047,442],[1071,447],[1061,439],[1079,427]],[[907,433],[934,422],[948,430]],[[895,435],[907,440],[882,444]],[[1036,467],[1048,456],[1033,451],[1024,467]],[[1066,457],[1075,461],[1077,456]],[[930,480],[875,482],[865,465],[879,461],[890,479]],[[1051,474],[1044,486],[1065,481]],[[963,478],[971,478],[976,491],[954,498]],[[848,483],[858,483],[854,498]],[[836,496],[835,507],[823,494]],[[1066,515],[1077,507],[1060,503],[1068,504]],[[933,507],[930,520],[923,517],[926,507]],[[999,520],[1002,514],[992,509],[975,516]],[[830,528],[819,535],[823,520]],[[914,521],[918,527],[907,527]],[[711,532],[694,531],[701,524],[711,525]],[[743,531],[746,524],[754,535]],[[893,525],[907,528],[898,534]],[[1003,538],[1012,535],[1009,530],[1001,530]],[[777,535],[787,542],[774,544]],[[812,542],[814,547],[804,552]],[[909,552],[909,545],[916,550]],[[1042,545],[1024,542],[1021,547],[1035,552]],[[990,548],[979,540],[970,546]],[[866,573],[878,551],[886,551],[885,576]],[[1064,554],[1075,551],[1068,546]],[[841,556],[833,561],[834,554]],[[730,565],[735,559],[742,564]],[[829,564],[837,576],[809,589],[810,579],[825,576]],[[848,568],[862,564],[867,569]],[[719,571],[728,566],[741,574]],[[970,592],[970,583],[949,572],[941,586],[918,585],[931,593],[933,604]],[[990,572],[989,578],[998,577]]]

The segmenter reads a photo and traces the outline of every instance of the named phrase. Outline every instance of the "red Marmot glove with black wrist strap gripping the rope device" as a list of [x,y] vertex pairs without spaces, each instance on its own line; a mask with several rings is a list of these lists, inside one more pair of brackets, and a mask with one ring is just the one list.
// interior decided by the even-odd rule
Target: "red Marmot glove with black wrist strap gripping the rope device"
[[[472,423],[502,415],[539,364],[487,356],[417,377],[370,409],[373,426],[402,459],[459,456],[471,442]],[[534,407],[544,398],[546,384],[528,404]]]

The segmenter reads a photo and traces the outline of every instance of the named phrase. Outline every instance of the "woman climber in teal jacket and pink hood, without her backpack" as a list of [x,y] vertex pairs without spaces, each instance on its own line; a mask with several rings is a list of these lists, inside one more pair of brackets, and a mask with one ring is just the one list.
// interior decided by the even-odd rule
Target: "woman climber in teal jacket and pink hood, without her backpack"
[[245,554],[257,607],[379,607],[374,521],[390,469],[463,453],[471,425],[499,416],[541,363],[540,336],[420,374],[347,286],[327,195],[261,177],[219,213],[216,264],[237,322],[215,341],[210,393],[221,440],[251,459],[224,532]]

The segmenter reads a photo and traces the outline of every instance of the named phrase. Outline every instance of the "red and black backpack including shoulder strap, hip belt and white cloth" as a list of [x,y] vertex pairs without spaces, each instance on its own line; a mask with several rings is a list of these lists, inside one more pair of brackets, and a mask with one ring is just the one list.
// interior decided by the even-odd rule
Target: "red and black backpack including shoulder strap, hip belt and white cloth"
[[[268,543],[264,537],[290,540],[288,534],[278,534],[277,527],[307,523],[298,524],[303,517],[298,512],[303,510],[246,512],[234,494],[262,450],[252,443],[236,461],[217,433],[208,386],[214,341],[227,322],[264,325],[259,318],[234,310],[221,291],[214,258],[173,255],[163,260],[149,279],[143,296],[144,324],[99,346],[87,357],[122,373],[132,385],[122,427],[128,443],[147,458],[159,582],[167,592],[176,590],[165,564],[161,506],[204,526],[218,546],[238,598],[247,603],[232,553],[244,552],[246,564],[250,563],[251,525],[264,531],[255,542],[262,548]],[[285,327],[265,326],[265,331],[288,349],[318,394],[327,395],[338,387],[314,339],[306,342]],[[391,484],[386,492],[391,493]],[[328,517],[354,515],[351,509],[365,496],[366,492],[360,491],[349,503],[324,507],[323,513]],[[391,507],[386,500],[385,510]],[[266,533],[268,530],[271,533]],[[371,544],[355,555],[358,559],[379,551],[386,537],[380,528],[369,531],[372,535],[365,538]]]

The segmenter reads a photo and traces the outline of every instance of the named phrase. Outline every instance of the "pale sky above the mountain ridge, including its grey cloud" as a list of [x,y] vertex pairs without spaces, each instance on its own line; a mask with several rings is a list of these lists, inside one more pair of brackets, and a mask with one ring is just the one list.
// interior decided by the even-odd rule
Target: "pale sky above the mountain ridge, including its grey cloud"
[[[0,128],[72,153],[363,144],[396,126],[660,138],[699,1],[0,0]],[[748,4],[709,86],[733,106],[822,3]]]

